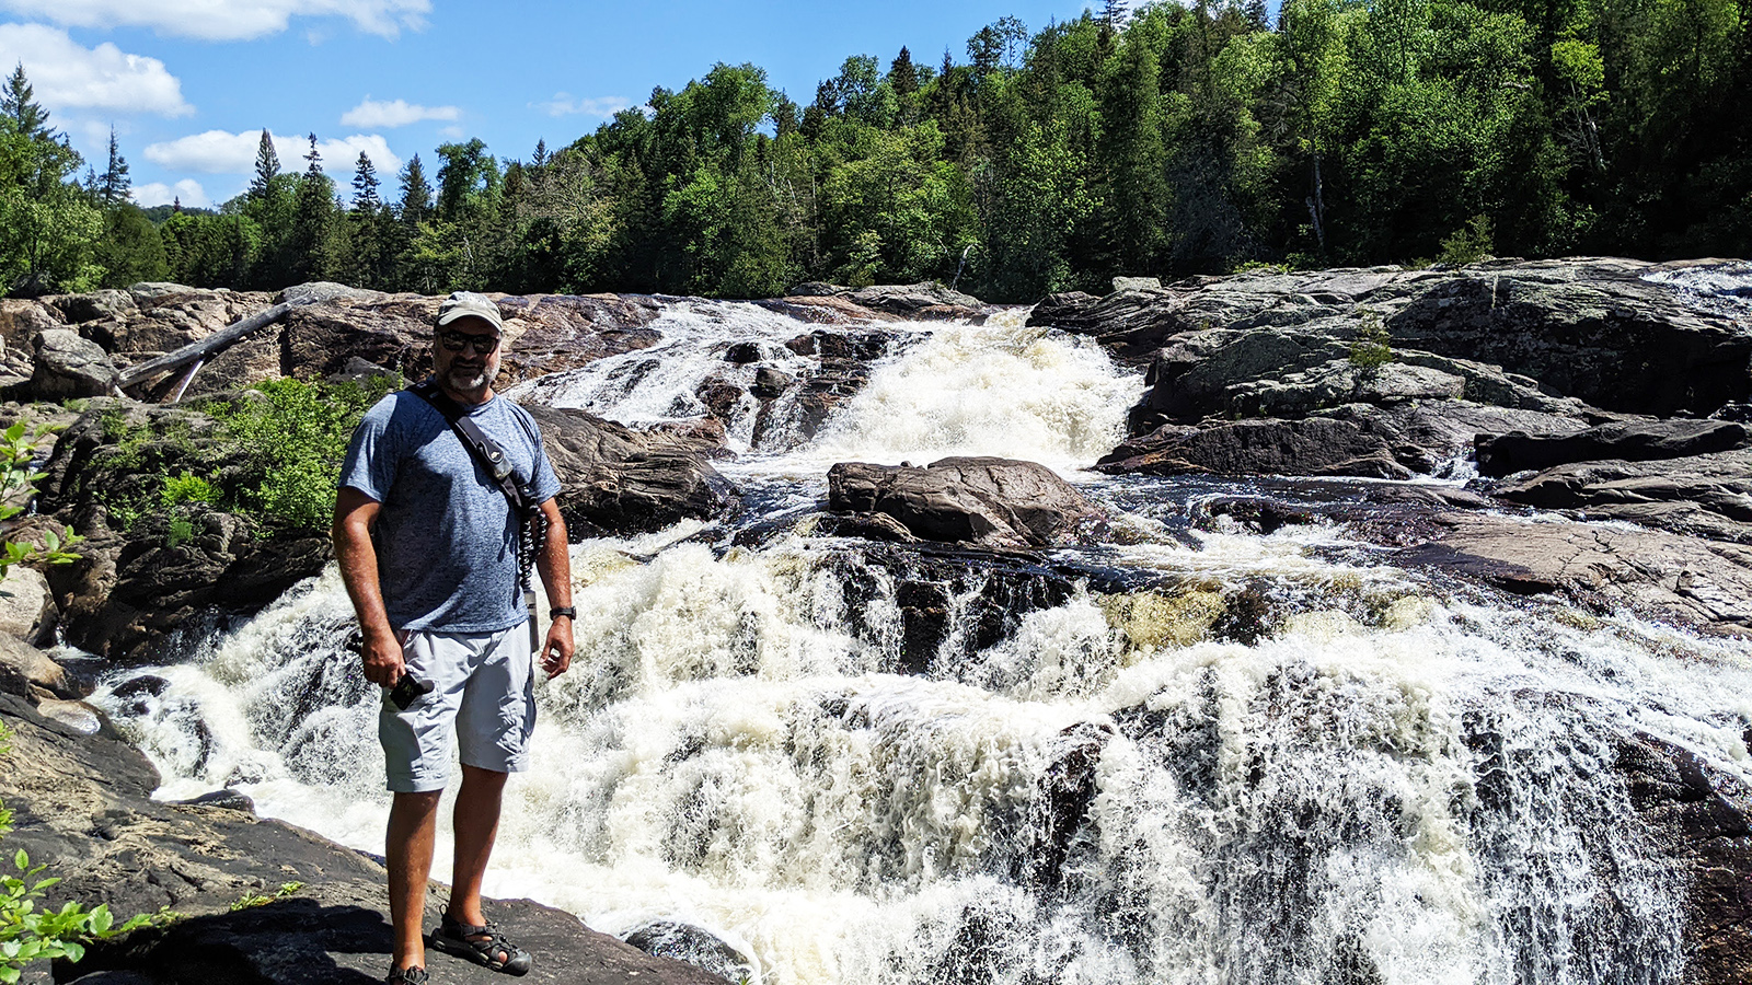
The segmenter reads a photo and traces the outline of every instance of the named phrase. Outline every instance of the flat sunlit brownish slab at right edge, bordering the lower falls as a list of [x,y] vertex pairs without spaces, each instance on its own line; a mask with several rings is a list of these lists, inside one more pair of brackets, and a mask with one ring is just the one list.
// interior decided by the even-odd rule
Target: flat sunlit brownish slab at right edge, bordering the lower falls
[[1437,535],[1391,557],[1519,594],[1558,594],[1598,612],[1633,612],[1752,636],[1752,547],[1584,522],[1447,514]]

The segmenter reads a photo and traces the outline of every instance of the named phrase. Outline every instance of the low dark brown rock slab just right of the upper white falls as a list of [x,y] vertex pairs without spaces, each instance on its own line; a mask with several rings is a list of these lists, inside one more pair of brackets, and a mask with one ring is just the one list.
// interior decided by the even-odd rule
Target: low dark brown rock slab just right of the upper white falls
[[1237,421],[1207,429],[1163,424],[1102,456],[1100,471],[1123,475],[1354,475],[1409,478],[1389,436],[1367,424],[1309,417]]

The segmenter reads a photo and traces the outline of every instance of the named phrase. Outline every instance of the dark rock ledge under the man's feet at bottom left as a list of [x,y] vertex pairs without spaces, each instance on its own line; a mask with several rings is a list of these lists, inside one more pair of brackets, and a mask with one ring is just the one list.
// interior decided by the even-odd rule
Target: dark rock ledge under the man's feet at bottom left
[[[154,801],[158,773],[107,726],[82,734],[9,694],[0,694],[0,719],[14,733],[0,769],[0,801],[18,824],[5,838],[9,854],[25,850],[63,880],[53,890],[56,904],[79,899],[107,903],[123,917],[179,915],[165,927],[95,945],[79,964],[58,962],[56,981],[103,981],[103,973],[123,971],[149,981],[382,981],[391,938],[378,862],[245,810]],[[445,894],[434,887],[427,899],[426,924],[434,925]],[[489,901],[487,911],[536,955],[522,981],[724,981],[526,899]],[[503,981],[438,952],[427,960],[434,980]]]

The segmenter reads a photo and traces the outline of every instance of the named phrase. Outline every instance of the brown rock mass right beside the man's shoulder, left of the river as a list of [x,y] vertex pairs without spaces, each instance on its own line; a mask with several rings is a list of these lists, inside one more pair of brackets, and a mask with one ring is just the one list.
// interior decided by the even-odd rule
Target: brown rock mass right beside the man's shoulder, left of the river
[[736,503],[736,487],[696,450],[697,438],[639,433],[583,410],[526,410],[541,426],[573,536],[661,529],[718,517]]

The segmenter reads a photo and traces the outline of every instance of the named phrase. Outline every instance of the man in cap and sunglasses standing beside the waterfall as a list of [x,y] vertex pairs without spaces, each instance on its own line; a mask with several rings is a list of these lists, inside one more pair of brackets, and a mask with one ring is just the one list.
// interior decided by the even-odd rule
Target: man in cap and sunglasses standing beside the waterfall
[[401,391],[371,407],[352,435],[335,501],[335,556],[364,633],[366,680],[392,689],[412,675],[431,685],[426,694],[396,694],[412,696],[405,710],[385,691],[378,715],[394,792],[385,850],[396,938],[391,983],[427,980],[420,918],[452,733],[463,762],[456,859],[450,904],[431,946],[512,974],[531,964],[480,910],[505,780],[526,768],[534,727],[522,519],[433,403],[449,398],[454,414],[501,445],[527,501],[547,517],[536,568],[554,622],[541,670],[550,678],[564,673],[573,610],[566,524],[554,503],[559,480],[536,422],[492,393],[503,328],[498,307],[480,294],[459,291],[440,305],[433,379],[442,396]]

